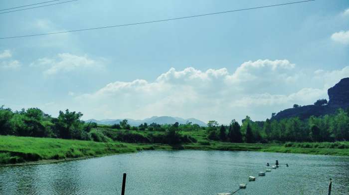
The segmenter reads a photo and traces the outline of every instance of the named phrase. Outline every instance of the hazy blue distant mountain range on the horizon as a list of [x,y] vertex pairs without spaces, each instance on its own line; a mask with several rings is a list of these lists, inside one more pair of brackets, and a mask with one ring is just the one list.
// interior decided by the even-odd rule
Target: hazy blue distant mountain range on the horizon
[[[104,119],[104,120],[90,119],[90,120],[87,120],[86,122],[94,122],[100,125],[113,125],[113,124],[119,124],[120,121],[122,120],[123,119]],[[203,126],[203,127],[206,126],[206,123],[198,119],[194,119],[194,118],[182,119],[179,117],[168,117],[168,116],[151,117],[144,120],[127,119],[127,121],[131,126],[139,126],[142,123],[147,123],[147,124],[156,123],[156,124],[164,125],[164,124],[174,124],[175,122],[178,122],[179,124],[186,124],[187,122],[191,122],[192,124],[197,124],[199,126]]]

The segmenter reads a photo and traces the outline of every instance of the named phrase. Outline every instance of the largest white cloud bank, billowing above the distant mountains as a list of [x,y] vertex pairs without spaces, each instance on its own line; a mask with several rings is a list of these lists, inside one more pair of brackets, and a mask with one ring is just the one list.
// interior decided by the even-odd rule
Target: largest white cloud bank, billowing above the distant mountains
[[228,123],[249,115],[265,120],[293,104],[327,98],[328,86],[348,76],[348,66],[306,74],[287,60],[246,62],[232,73],[227,68],[171,68],[154,82],[109,83],[93,93],[74,96],[74,104],[86,119],[167,115]]

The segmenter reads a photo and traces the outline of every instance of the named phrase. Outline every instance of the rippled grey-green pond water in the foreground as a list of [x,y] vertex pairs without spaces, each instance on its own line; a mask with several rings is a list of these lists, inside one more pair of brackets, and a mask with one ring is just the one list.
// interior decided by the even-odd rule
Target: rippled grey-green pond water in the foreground
[[[266,162],[288,163],[265,171]],[[246,151],[144,151],[62,162],[0,167],[0,195],[349,195],[349,157]],[[248,182],[255,176],[255,182]]]

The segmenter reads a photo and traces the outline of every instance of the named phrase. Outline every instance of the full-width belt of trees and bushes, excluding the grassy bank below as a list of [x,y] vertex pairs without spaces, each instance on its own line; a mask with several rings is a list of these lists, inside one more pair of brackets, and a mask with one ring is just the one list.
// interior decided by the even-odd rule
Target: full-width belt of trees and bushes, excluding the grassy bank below
[[[0,134],[63,139],[121,141],[129,143],[182,144],[214,140],[234,143],[324,142],[349,140],[349,109],[339,109],[334,115],[310,117],[307,120],[289,118],[254,122],[250,117],[240,125],[232,120],[229,125],[209,121],[207,127],[196,124],[141,124],[131,127],[127,120],[112,126],[100,126],[80,120],[80,112],[60,111],[57,118],[38,108],[12,111],[0,107]],[[190,133],[185,133],[190,132]],[[195,132],[201,137],[193,136]],[[202,139],[202,137],[204,137]],[[202,140],[201,140],[202,139]]]

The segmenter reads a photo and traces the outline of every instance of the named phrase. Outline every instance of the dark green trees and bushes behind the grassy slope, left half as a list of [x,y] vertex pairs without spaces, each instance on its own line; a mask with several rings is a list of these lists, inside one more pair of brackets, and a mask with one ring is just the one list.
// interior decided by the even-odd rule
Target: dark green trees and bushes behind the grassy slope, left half
[[[85,123],[80,118],[82,114],[60,111],[57,118],[44,114],[38,108],[12,112],[9,108],[0,107],[0,134],[32,137],[52,137],[63,139],[93,140],[99,142],[123,141],[130,143],[189,143],[196,140],[187,135],[179,134],[179,130],[199,128],[197,125],[160,126],[157,124],[142,124],[140,127],[131,127],[127,120],[111,127],[98,127],[96,123]],[[146,131],[140,133],[138,131]]]

